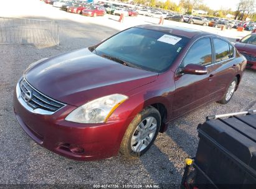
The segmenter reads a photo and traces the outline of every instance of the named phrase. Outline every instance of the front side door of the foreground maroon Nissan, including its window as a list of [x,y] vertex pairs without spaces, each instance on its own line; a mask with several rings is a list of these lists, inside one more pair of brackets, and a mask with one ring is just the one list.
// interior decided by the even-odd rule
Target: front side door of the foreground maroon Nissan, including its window
[[[190,63],[204,66],[211,65],[213,63],[212,53],[211,39],[209,37],[199,39],[191,46],[179,68],[182,70]],[[213,85],[213,77],[214,70],[209,67],[207,67],[206,75],[176,73],[172,117],[178,118],[205,104],[207,101],[211,101],[209,96],[214,93],[212,91],[214,88],[211,87]]]

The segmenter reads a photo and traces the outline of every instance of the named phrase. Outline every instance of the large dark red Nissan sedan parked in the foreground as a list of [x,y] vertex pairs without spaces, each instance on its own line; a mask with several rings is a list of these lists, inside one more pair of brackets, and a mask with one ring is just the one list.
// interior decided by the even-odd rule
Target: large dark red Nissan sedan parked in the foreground
[[245,65],[219,35],[140,25],[32,63],[17,82],[14,112],[34,141],[70,159],[140,157],[170,121],[228,103]]

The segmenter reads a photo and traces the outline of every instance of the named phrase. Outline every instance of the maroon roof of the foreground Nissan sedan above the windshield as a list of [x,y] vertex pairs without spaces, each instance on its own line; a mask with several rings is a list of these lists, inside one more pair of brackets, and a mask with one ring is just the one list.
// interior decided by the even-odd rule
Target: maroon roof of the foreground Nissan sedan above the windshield
[[192,39],[196,35],[200,35],[200,34],[201,35],[205,34],[205,35],[219,36],[219,35],[211,34],[209,32],[204,32],[201,30],[190,29],[187,27],[178,27],[178,26],[174,26],[174,25],[145,24],[145,25],[138,25],[135,27],[149,29],[149,30],[156,30],[156,31],[165,32],[168,34],[180,35],[180,36],[187,37],[189,39]]

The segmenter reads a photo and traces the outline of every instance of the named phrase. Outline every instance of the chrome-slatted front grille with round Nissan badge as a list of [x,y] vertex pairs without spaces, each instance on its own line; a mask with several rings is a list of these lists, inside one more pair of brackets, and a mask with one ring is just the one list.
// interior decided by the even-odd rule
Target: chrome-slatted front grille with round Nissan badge
[[39,108],[46,111],[55,112],[65,106],[65,104],[62,104],[58,101],[55,101],[54,99],[45,96],[42,93],[39,93],[39,91],[32,88],[32,86],[29,85],[29,83],[27,83],[24,78],[19,83],[19,87],[21,88],[22,99],[24,99],[27,105],[30,106],[32,109]]

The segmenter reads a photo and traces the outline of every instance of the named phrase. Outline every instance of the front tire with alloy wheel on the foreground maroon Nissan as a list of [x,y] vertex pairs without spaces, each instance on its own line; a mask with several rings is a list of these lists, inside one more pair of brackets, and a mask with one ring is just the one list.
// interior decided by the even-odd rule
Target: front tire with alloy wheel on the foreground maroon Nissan
[[[146,127],[145,130],[147,123],[149,123],[150,126]],[[156,108],[148,106],[143,109],[135,116],[126,129],[120,145],[120,154],[129,158],[136,158],[145,154],[156,139],[160,129],[160,124],[161,116]],[[148,128],[151,129],[148,131]]]

